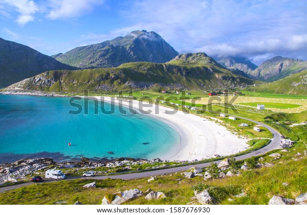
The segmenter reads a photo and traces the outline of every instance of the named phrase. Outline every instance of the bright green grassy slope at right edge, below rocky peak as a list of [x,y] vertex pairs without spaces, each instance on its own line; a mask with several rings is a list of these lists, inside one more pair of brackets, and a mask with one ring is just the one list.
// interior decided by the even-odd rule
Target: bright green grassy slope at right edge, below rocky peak
[[307,95],[307,70],[274,82],[257,85],[250,90],[264,93]]

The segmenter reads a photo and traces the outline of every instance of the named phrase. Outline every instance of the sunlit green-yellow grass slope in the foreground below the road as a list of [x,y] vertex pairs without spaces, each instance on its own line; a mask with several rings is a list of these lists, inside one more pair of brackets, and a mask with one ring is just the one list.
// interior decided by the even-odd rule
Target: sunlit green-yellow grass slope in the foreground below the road
[[[52,183],[36,183],[26,187],[0,193],[0,204],[101,204],[107,193],[132,188],[146,191],[151,188],[162,191],[166,199],[147,201],[144,197],[126,202],[126,204],[187,204],[194,196],[192,186],[206,184],[218,204],[268,204],[273,195],[295,199],[307,191],[307,157],[303,154],[306,146],[302,142],[295,144],[291,152],[279,152],[281,158],[274,160],[268,155],[262,156],[261,163],[274,163],[273,167],[262,167],[244,171],[239,176],[204,181],[202,177],[186,179],[180,173],[158,176],[158,180],[147,182],[148,178],[135,180],[121,179],[77,179]],[[302,155],[295,156],[300,152]],[[243,161],[238,162],[239,165]],[[181,179],[177,181],[176,179]],[[85,189],[83,185],[96,181],[97,188]],[[282,185],[286,182],[288,186]],[[246,197],[234,198],[244,189]],[[229,202],[228,198],[233,201]]]

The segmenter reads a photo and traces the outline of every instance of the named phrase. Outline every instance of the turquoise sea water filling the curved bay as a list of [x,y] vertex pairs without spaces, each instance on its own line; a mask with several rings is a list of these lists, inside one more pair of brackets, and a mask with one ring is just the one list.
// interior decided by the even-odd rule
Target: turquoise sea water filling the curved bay
[[[89,114],[71,115],[69,110],[76,107],[70,106],[69,99],[0,95],[0,162],[80,156],[153,159],[180,149],[179,134],[156,118],[122,115],[118,108],[112,115],[100,111],[95,115],[91,101]],[[111,110],[111,104],[104,105]]]

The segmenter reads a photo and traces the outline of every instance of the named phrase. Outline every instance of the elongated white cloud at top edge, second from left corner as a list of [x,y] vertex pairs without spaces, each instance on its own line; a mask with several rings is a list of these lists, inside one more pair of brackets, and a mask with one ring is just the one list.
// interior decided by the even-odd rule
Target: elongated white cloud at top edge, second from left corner
[[50,19],[71,18],[93,10],[102,0],[50,0],[51,11],[47,14]]

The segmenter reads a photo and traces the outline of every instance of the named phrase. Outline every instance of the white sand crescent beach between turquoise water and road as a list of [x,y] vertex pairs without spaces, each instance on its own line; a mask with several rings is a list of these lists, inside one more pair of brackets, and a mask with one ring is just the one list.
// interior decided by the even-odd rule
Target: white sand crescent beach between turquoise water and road
[[[111,102],[111,97],[95,97]],[[119,100],[115,98],[115,103],[118,104],[118,102]],[[132,105],[134,110],[138,110],[138,113],[140,113],[140,108],[144,111],[151,111],[151,116],[158,117],[160,120],[171,123],[173,127],[177,128],[181,137],[179,152],[175,152],[177,155],[174,155],[174,153],[161,155],[160,159],[201,160],[215,157],[214,155],[232,155],[248,148],[247,139],[239,138],[228,131],[226,127],[200,116],[186,114],[181,111],[177,111],[176,114],[170,114],[169,111],[173,111],[173,109],[155,104],[151,104],[151,107],[142,108],[137,100],[121,102],[125,106]]]

